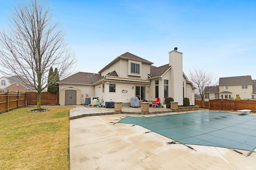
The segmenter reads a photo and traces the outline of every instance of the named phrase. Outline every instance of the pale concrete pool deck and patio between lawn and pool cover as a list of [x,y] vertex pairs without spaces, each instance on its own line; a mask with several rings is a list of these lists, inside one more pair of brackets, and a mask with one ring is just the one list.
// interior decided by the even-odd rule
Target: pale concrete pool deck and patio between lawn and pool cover
[[[248,170],[256,169],[256,153],[248,151],[190,145],[192,150],[138,125],[113,123],[123,117],[148,117],[178,112],[160,113],[162,108],[151,108],[150,114],[141,115],[140,108],[123,107],[122,111],[137,114],[110,114],[114,109],[84,108],[77,106],[70,111],[70,169],[71,170]],[[127,112],[128,112],[127,111]],[[156,111],[156,112],[154,112]],[[134,113],[133,112],[133,113]],[[107,115],[100,115],[100,114]],[[85,116],[96,114],[95,116]]]

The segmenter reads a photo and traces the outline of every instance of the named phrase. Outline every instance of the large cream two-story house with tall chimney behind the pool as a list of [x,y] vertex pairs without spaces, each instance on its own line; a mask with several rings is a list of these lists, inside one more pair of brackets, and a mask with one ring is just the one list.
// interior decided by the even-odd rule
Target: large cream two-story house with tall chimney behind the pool
[[167,97],[183,105],[183,98],[194,104],[194,86],[182,71],[182,53],[174,48],[169,53],[169,64],[156,67],[152,62],[131,53],[124,53],[102,68],[98,74],[77,72],[58,82],[60,105],[90,104],[98,98],[105,102],[130,105],[137,96],[148,102]]

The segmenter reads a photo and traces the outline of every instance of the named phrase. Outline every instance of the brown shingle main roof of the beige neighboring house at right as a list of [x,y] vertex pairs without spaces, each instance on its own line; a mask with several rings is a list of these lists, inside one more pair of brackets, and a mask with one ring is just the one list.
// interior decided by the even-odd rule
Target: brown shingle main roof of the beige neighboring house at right
[[240,84],[252,84],[251,76],[236,76],[236,77],[223,77],[219,80],[219,85],[240,85]]

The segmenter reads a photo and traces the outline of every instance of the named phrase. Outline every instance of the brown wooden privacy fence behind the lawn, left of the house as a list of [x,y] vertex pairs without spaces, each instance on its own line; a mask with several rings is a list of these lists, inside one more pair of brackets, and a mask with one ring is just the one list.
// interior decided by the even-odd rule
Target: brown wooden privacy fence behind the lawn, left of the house
[[[41,105],[58,105],[59,93],[42,92]],[[12,92],[0,94],[0,112],[16,109],[21,106],[37,105],[36,92]]]

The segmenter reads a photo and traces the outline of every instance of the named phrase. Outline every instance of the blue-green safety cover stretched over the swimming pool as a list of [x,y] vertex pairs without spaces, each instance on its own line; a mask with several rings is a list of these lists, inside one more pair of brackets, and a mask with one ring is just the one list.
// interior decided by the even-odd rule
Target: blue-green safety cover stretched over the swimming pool
[[152,117],[126,116],[117,123],[140,125],[182,144],[253,151],[256,115],[198,111]]

